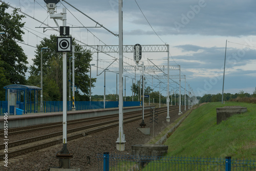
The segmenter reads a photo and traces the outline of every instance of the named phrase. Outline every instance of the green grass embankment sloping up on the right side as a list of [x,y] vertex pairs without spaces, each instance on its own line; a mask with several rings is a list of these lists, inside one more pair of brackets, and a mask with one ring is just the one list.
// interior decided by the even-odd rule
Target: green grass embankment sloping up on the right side
[[[247,112],[217,125],[216,108],[226,105],[247,107]],[[168,145],[168,156],[256,158],[256,104],[204,104],[191,112],[165,145]]]

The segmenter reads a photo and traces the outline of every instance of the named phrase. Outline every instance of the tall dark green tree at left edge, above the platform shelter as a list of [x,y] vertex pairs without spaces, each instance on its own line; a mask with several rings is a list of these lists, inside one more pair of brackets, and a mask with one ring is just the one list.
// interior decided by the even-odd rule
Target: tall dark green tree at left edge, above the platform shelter
[[[18,41],[23,41],[22,28],[25,23],[21,20],[24,15],[19,15],[17,9],[12,11],[12,14],[5,12],[8,9],[6,3],[0,5],[0,31],[6,32],[0,36],[0,54],[1,54],[1,87],[8,84],[26,84],[25,73],[28,70],[26,64],[27,56],[23,49],[18,46]],[[1,88],[1,94],[4,93],[4,89]],[[5,94],[5,93],[4,93]],[[3,100],[1,96],[1,100]]]

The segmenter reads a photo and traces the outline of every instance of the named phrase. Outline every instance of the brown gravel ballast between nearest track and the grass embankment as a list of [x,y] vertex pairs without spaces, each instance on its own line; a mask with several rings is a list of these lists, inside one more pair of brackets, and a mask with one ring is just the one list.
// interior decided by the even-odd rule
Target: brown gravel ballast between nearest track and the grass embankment
[[[184,110],[184,108],[182,108]],[[179,110],[170,111],[170,122],[166,122],[166,114],[158,116],[158,123],[155,123],[155,136],[163,131],[165,127],[174,122],[180,116]],[[140,121],[124,124],[125,134],[125,151],[122,154],[131,154],[133,144],[145,144],[153,138],[153,123],[150,123],[150,118],[145,118],[146,127],[150,127],[151,135],[144,135],[137,130]],[[38,133],[35,132],[38,135]],[[104,152],[119,153],[116,149],[116,141],[118,138],[118,127],[113,127],[93,135],[88,135],[73,141],[68,142],[68,149],[73,158],[71,159],[71,166],[78,167],[80,170],[98,170],[97,154]],[[11,171],[31,171],[31,170],[48,170],[50,167],[59,166],[59,160],[56,158],[56,152],[60,151],[62,144],[55,145],[40,151],[27,154],[26,157],[19,161],[11,162],[8,160],[8,167],[1,166],[0,170]],[[90,163],[88,158],[90,157]],[[3,161],[2,161],[3,162]]]

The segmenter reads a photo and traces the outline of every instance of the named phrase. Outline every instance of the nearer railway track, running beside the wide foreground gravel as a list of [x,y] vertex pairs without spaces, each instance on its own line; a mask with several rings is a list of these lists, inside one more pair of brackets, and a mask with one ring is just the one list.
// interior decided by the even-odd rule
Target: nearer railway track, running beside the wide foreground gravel
[[[170,108],[169,108],[170,111],[175,110],[175,109],[178,109],[178,107],[170,106]],[[158,114],[166,113],[166,111],[167,111],[166,107],[160,108],[160,109],[158,109]],[[133,116],[127,116],[129,114],[126,113],[125,115],[127,117],[124,117],[123,123],[126,124],[126,123],[140,120],[141,119],[141,111],[139,113],[140,114],[133,115]],[[130,115],[131,115],[131,113],[130,113]],[[144,118],[150,117],[150,115],[151,115],[150,110],[144,111]],[[114,117],[114,116],[111,116],[111,117]],[[93,118],[93,119],[97,119],[97,118]],[[86,120],[86,121],[88,121],[88,120]],[[79,122],[79,121],[74,121],[74,122]],[[119,124],[118,119],[112,119],[112,120],[105,121],[105,122],[99,122],[99,123],[94,123],[94,124],[90,124],[87,126],[77,127],[75,129],[70,129],[67,131],[68,141],[80,138],[82,136],[87,136],[87,135],[90,135],[90,134],[93,134],[93,133],[96,133],[99,131],[103,131],[106,129],[110,129],[111,127],[118,126],[118,124]],[[49,125],[49,127],[51,127],[51,126],[53,126],[53,125]],[[27,131],[27,130],[23,130],[23,131]],[[52,146],[55,144],[59,144],[59,143],[62,143],[62,132],[56,132],[56,133],[52,133],[52,134],[28,138],[28,139],[24,139],[24,140],[15,141],[15,142],[9,142],[8,143],[8,153],[7,153],[8,158],[27,154],[29,152],[33,152],[38,149],[46,148],[46,147],[49,147],[49,146]],[[5,145],[1,144],[0,149],[4,149],[4,148],[5,148]],[[0,160],[3,160],[5,155],[6,155],[6,153],[1,153]]]

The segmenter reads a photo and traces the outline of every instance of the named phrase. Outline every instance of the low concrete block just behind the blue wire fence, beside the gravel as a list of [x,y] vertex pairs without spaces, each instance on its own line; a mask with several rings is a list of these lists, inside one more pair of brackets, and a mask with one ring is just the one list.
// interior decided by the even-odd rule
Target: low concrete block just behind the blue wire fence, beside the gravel
[[136,144],[132,145],[133,156],[164,156],[168,152],[168,145]]

